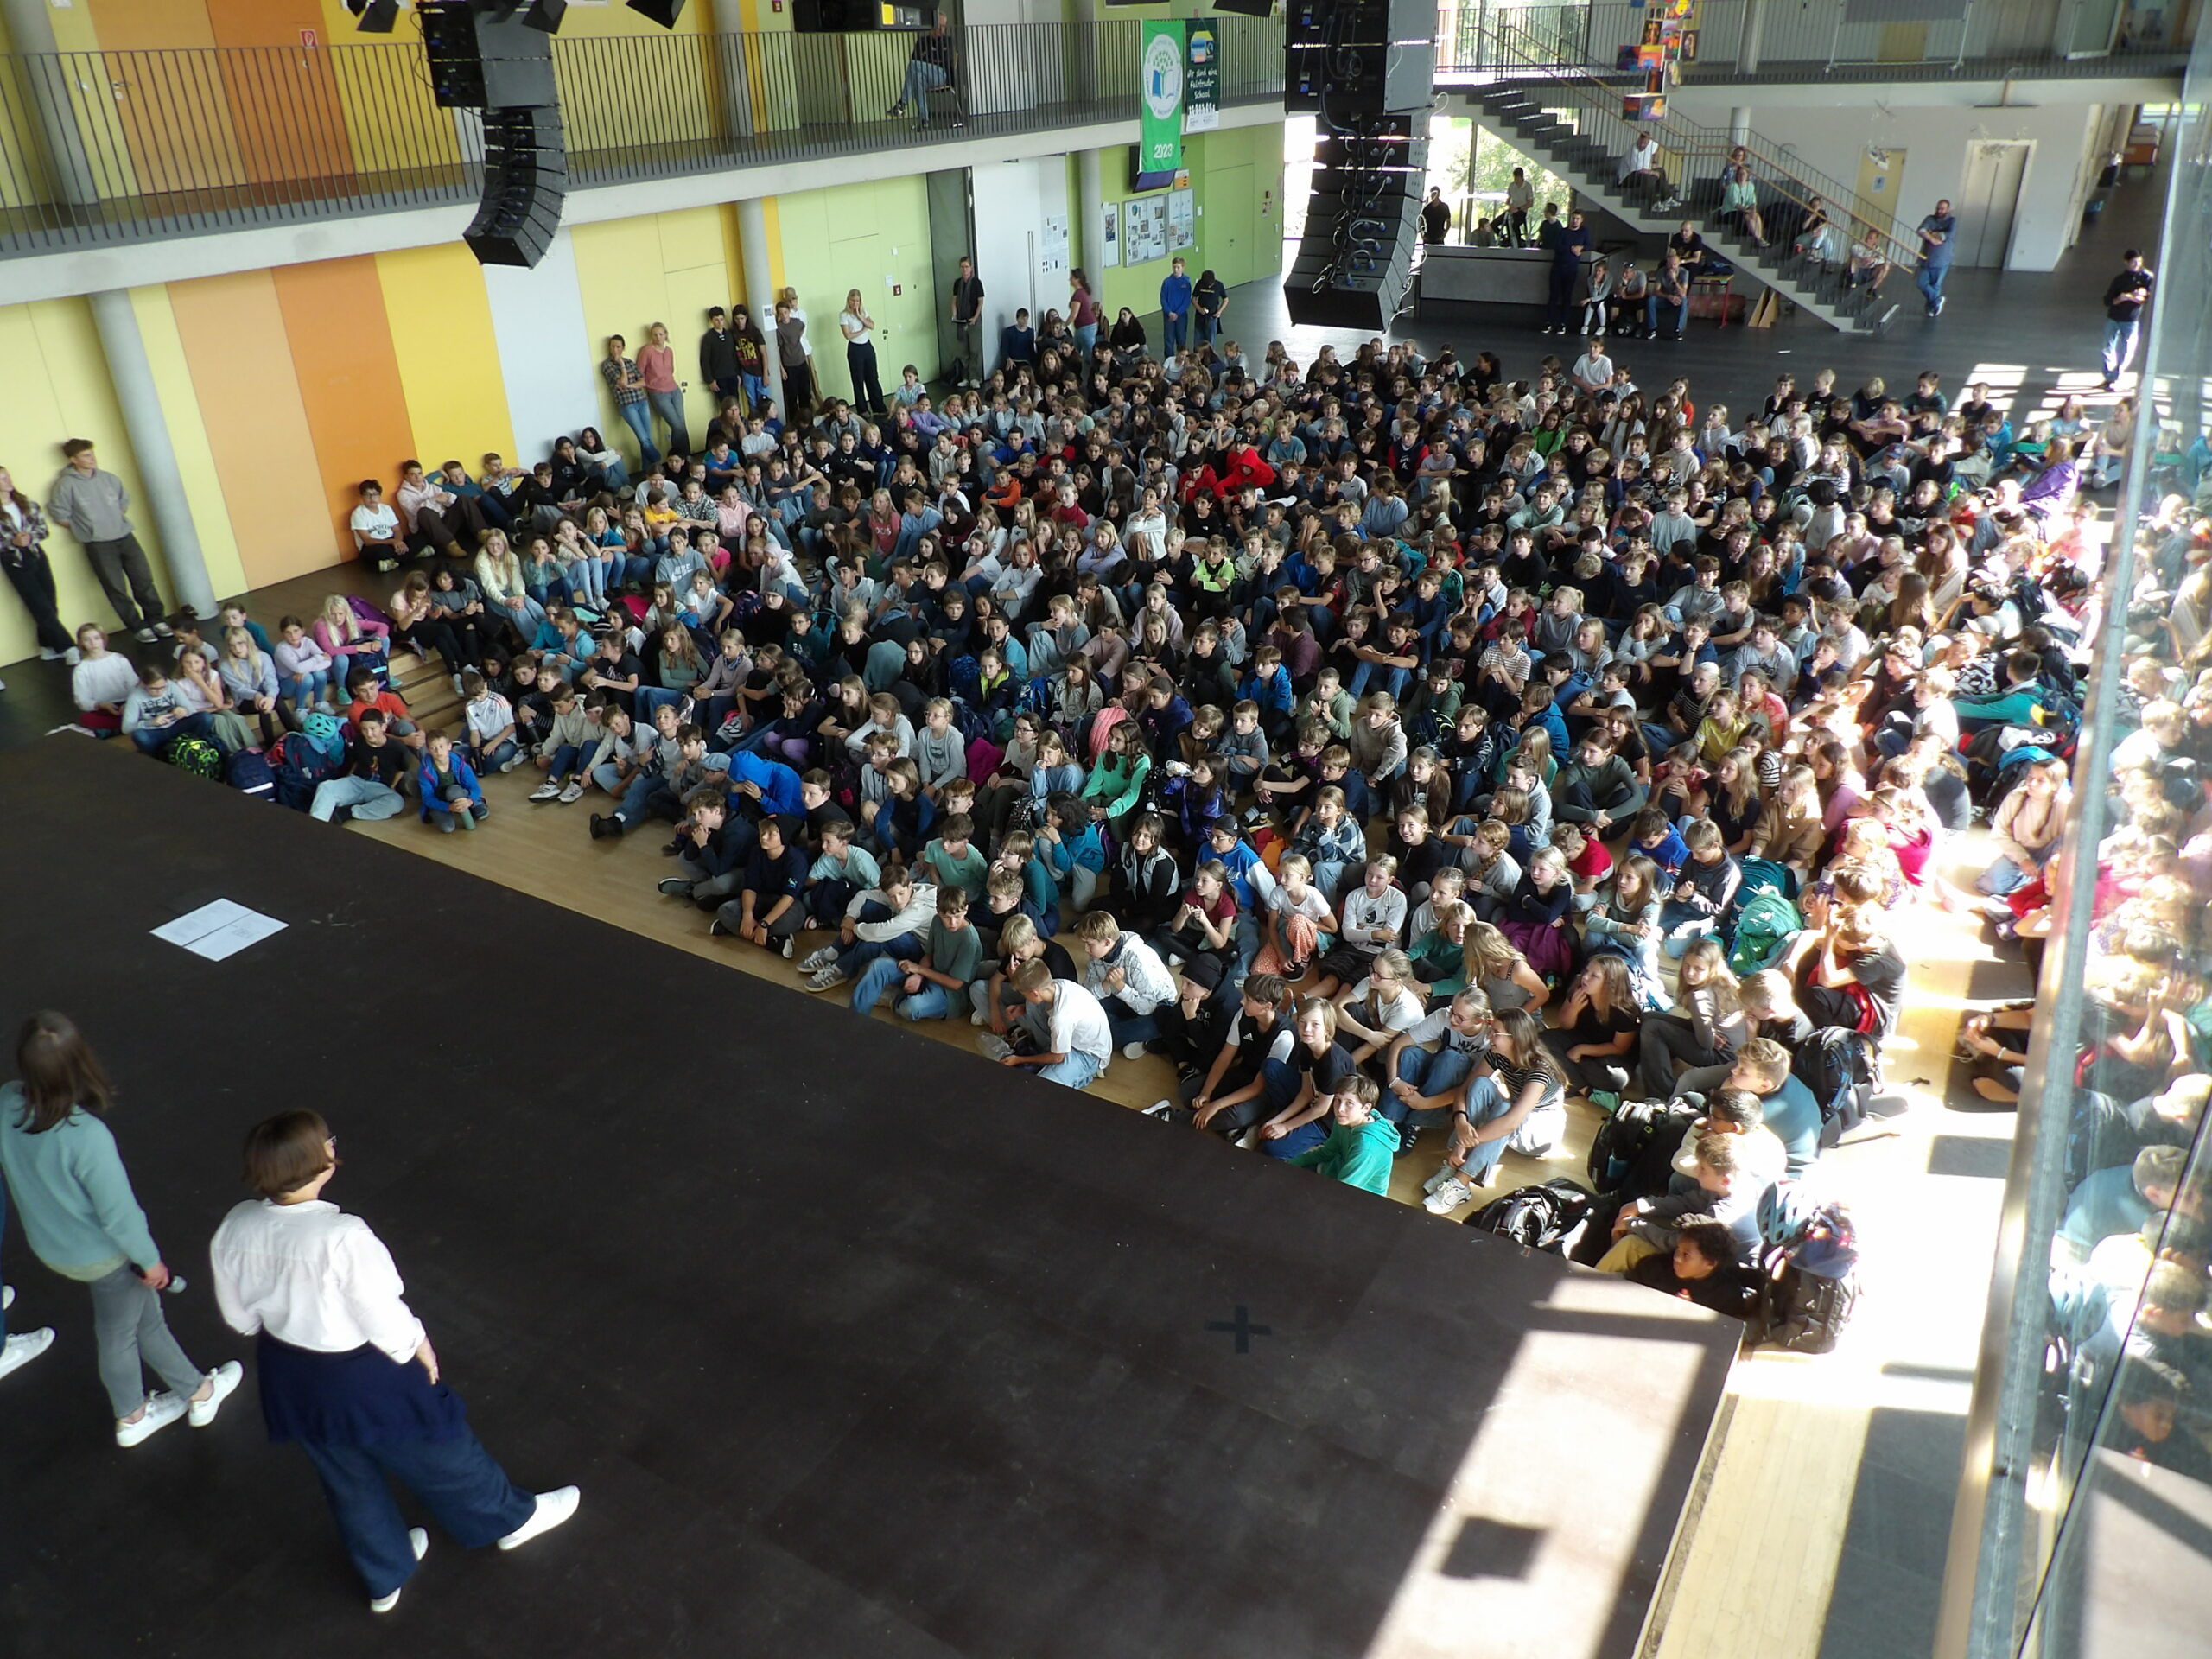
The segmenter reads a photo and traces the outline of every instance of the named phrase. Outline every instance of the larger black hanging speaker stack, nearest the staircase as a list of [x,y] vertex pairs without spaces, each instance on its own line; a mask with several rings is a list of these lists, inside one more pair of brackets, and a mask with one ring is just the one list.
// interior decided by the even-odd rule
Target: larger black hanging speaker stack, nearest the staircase
[[1383,332],[1420,246],[1436,97],[1433,0],[1290,0],[1283,106],[1316,117],[1292,323]]

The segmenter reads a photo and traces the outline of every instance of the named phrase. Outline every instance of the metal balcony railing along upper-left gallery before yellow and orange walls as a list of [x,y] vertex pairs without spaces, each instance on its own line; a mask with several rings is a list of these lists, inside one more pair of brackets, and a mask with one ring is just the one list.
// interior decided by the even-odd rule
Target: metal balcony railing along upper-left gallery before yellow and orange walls
[[[1281,24],[1212,22],[1221,104],[1279,100]],[[557,38],[568,188],[1137,117],[1135,20],[956,33],[922,133],[885,115],[907,33]],[[418,40],[0,53],[0,257],[465,204],[482,153]]]

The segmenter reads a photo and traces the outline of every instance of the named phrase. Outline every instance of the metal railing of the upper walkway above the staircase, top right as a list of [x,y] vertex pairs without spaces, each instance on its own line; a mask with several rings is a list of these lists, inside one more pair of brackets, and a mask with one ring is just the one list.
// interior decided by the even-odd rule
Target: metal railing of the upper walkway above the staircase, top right
[[[1759,13],[1754,53],[1741,58]],[[1509,15],[1562,66],[1610,71],[1657,13],[1628,0],[1444,0],[1438,9],[1438,80],[1493,75],[1500,64],[1484,20]],[[1701,0],[1697,53],[1683,77],[1728,80],[2051,80],[2181,73],[2197,9],[2128,9],[2070,0],[1966,0],[1933,22],[1854,22],[1849,0]],[[1756,66],[1750,66],[1756,62]]]

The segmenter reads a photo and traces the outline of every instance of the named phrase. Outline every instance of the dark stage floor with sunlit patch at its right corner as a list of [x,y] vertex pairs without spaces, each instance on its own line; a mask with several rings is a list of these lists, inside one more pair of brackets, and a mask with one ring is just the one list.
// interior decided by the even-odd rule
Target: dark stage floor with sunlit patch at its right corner
[[[584,1489],[374,1619],[252,1387],[113,1444],[15,1237],[13,1659],[1632,1648],[1734,1327],[108,745],[0,799],[0,1020],[106,1057],[188,1352],[248,1352],[206,1241],[312,1102],[493,1453]],[[212,898],[290,927],[150,938]]]

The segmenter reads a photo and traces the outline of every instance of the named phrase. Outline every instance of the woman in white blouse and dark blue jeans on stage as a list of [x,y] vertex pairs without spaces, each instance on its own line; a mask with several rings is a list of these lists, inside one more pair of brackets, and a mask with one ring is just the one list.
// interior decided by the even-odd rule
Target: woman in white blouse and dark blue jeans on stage
[[310,1110],[246,1133],[246,1186],[259,1192],[215,1230],[215,1301],[257,1338],[270,1440],[296,1440],[323,1478],[345,1553],[389,1613],[429,1548],[389,1480],[420,1498],[462,1548],[511,1551],[568,1520],[577,1489],[535,1498],[491,1460],[438,1354],[400,1298],[392,1252],[361,1217],[323,1197],[338,1137]]

